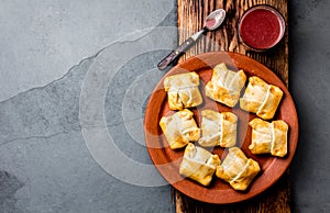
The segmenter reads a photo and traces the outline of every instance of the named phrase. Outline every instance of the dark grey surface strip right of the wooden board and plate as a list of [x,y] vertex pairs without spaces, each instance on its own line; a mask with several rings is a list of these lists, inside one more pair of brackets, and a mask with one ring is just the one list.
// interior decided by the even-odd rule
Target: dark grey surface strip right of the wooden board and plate
[[289,1],[290,82],[300,120],[295,212],[330,212],[330,1]]

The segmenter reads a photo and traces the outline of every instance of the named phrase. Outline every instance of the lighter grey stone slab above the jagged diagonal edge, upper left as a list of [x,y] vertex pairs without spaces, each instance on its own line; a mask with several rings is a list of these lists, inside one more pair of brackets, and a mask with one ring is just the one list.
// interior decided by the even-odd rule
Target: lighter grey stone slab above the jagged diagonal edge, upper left
[[0,101],[61,78],[106,45],[156,26],[172,10],[168,0],[1,0]]

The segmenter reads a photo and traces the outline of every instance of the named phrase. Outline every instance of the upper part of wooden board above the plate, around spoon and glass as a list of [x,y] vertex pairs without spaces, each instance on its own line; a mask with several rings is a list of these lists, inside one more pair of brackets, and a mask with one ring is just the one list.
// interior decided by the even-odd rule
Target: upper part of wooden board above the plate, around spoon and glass
[[238,22],[243,12],[255,4],[273,5],[279,10],[285,20],[288,18],[287,0],[178,0],[179,43],[202,27],[204,19],[209,12],[219,8],[227,11],[224,24],[215,32],[208,32],[182,59],[220,49],[241,53],[263,63],[288,83],[288,31],[285,38],[266,53],[246,52],[244,45],[239,42]]

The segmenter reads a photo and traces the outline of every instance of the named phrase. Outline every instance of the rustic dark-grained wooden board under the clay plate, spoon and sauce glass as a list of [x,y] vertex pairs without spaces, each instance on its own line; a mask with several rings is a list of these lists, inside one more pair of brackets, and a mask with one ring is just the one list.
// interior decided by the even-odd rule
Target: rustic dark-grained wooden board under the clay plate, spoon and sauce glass
[[[227,19],[216,32],[208,32],[182,58],[211,52],[230,51],[248,55],[271,68],[288,85],[288,27],[284,40],[272,51],[265,53],[248,52],[239,41],[238,22],[243,12],[255,4],[270,4],[275,7],[285,18],[287,14],[287,0],[177,0],[178,11],[178,43],[200,30],[204,19],[211,11],[223,8]],[[264,193],[252,200],[231,205],[213,205],[193,200],[174,190],[176,212],[290,212],[289,172],[287,171],[278,182]]]

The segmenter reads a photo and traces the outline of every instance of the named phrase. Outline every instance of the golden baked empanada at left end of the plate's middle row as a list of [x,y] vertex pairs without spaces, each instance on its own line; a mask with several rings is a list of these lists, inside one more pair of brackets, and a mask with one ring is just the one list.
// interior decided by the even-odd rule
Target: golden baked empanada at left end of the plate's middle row
[[197,127],[193,115],[191,111],[184,109],[161,119],[160,125],[172,149],[182,148],[189,142],[199,139],[200,128]]

